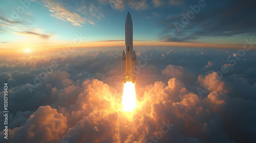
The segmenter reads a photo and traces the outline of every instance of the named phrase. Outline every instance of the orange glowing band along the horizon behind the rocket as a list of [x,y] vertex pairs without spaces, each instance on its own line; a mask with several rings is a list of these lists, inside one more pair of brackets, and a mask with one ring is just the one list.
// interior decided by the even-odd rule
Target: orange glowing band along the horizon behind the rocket
[[[70,42],[72,43],[72,42]],[[59,41],[56,43],[2,43],[0,54],[20,54],[32,52],[48,52],[58,49],[80,49],[87,47],[117,47],[123,46],[124,41],[91,41],[72,45],[69,42]],[[189,42],[166,42],[166,41],[134,41],[134,46],[175,46],[175,47],[199,47],[199,48],[216,48],[216,49],[241,49],[243,45],[232,44],[207,44],[207,43],[189,43]],[[30,48],[27,48],[30,47]],[[26,50],[26,49],[29,49]],[[252,49],[255,50],[255,49]]]

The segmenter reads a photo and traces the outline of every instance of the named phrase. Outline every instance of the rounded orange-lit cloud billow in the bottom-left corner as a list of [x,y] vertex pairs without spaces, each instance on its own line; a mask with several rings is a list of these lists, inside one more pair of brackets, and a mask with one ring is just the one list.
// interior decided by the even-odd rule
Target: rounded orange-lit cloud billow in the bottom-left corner
[[[12,142],[54,142],[67,130],[67,118],[50,106],[39,107],[26,124],[9,132]],[[8,140],[9,141],[9,140]]]

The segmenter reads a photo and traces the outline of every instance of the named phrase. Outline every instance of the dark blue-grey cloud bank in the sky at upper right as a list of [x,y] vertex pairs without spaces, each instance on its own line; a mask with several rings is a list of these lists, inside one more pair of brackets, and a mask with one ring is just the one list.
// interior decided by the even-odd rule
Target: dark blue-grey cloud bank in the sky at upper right
[[[199,5],[188,2],[178,14],[170,14],[158,22],[164,27],[162,39],[165,41],[191,42],[202,37],[253,35],[256,27],[253,5],[255,1],[204,1],[205,6],[193,12],[190,6]],[[194,10],[195,11],[195,10]],[[188,18],[187,14],[194,16]],[[185,17],[185,18],[184,18]],[[178,28],[177,28],[178,27]]]

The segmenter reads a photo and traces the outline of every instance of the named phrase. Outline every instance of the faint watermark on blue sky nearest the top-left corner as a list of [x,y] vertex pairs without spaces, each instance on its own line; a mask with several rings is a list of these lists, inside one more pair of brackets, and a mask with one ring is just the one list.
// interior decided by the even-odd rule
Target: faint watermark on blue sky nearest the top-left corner
[[21,14],[24,14],[25,11],[30,7],[30,2],[28,0],[20,0],[19,1],[20,5],[16,8],[12,8],[12,14],[11,18],[12,19],[18,19]]

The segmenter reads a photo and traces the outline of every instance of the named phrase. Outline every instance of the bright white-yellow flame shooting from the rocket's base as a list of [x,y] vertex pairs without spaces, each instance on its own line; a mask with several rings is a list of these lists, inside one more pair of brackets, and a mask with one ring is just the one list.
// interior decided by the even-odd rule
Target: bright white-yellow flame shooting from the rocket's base
[[123,111],[133,111],[136,107],[135,85],[132,82],[126,82],[123,85]]

